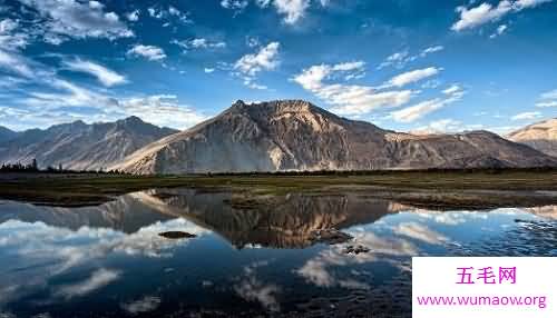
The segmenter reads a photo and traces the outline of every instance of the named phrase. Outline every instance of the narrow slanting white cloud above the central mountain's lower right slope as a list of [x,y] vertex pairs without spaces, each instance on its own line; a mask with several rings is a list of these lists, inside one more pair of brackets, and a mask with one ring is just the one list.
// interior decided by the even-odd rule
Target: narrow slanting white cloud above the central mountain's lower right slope
[[412,122],[426,115],[439,110],[462,99],[465,91],[459,86],[451,86],[443,90],[443,97],[426,100],[414,106],[391,112],[392,119],[399,122]]

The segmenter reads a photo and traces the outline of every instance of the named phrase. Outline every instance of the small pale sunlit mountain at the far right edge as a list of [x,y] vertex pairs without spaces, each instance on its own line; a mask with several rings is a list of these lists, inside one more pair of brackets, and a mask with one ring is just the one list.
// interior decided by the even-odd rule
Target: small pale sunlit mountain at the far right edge
[[507,136],[515,142],[557,157],[557,118],[527,126]]

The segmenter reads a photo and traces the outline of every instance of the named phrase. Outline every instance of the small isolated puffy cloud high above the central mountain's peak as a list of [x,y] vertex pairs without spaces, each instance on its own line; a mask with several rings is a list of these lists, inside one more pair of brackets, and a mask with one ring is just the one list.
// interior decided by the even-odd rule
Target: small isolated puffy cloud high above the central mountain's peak
[[271,71],[278,67],[278,42],[271,42],[261,48],[256,53],[245,54],[234,63],[234,71],[244,79],[244,83],[251,88],[265,89],[266,87],[255,83],[256,76],[262,71]]

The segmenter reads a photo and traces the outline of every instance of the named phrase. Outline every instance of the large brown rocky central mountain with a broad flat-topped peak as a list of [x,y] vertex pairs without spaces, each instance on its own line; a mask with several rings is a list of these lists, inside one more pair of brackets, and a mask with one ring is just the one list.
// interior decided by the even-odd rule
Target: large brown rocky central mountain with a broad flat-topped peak
[[414,136],[340,118],[310,102],[235,102],[114,168],[131,173],[557,166],[488,131]]

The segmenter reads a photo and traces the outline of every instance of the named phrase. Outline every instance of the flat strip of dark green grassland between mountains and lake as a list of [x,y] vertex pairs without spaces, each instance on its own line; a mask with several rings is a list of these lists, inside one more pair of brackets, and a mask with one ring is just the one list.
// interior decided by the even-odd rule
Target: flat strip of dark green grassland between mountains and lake
[[[557,203],[557,170],[382,171],[324,175],[0,175],[0,198],[46,205],[84,206],[152,188],[187,187],[204,191],[236,191],[248,196],[355,192],[412,201],[417,205]],[[502,199],[501,199],[502,198]],[[502,200],[502,201],[501,201]],[[447,202],[443,202],[447,201]],[[477,202],[477,203],[476,203]],[[540,202],[541,203],[541,202]]]

